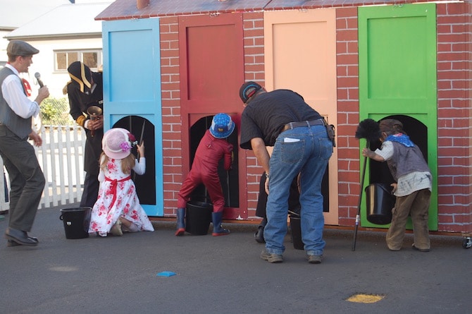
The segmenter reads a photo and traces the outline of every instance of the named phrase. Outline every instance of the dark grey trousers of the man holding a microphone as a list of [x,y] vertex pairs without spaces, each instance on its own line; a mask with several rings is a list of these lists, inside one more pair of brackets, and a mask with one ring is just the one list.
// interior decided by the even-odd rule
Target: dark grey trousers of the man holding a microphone
[[0,155],[10,176],[8,227],[31,231],[45,185],[35,149],[6,126],[0,126]]

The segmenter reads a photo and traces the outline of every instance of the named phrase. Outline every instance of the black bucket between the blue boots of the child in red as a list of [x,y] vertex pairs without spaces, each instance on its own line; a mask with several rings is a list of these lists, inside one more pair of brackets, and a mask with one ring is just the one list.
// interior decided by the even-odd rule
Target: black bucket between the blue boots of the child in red
[[209,203],[191,200],[187,203],[187,214],[185,215],[185,231],[196,236],[208,234],[211,222],[213,205]]

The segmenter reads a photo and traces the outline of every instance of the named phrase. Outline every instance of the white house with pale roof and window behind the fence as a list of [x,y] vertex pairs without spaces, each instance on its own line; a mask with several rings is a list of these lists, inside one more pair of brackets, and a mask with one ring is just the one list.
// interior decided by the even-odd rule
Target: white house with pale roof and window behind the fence
[[63,97],[62,89],[70,80],[67,67],[71,62],[84,61],[92,71],[102,65],[101,21],[94,18],[112,1],[75,2],[51,8],[5,35],[6,40],[24,40],[39,49],[27,79],[34,89],[37,85],[34,74],[41,73],[54,98]]

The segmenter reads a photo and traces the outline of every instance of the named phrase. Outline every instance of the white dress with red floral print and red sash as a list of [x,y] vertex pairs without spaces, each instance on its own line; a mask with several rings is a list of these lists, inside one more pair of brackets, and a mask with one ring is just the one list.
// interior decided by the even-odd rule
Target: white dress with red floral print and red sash
[[[136,160],[133,170],[136,174],[146,171],[146,159]],[[99,195],[92,209],[89,233],[98,232],[104,236],[110,232],[118,217],[124,217],[136,225],[138,231],[154,231],[136,194],[135,183],[130,174],[121,170],[121,159],[108,159],[105,171],[99,172]]]

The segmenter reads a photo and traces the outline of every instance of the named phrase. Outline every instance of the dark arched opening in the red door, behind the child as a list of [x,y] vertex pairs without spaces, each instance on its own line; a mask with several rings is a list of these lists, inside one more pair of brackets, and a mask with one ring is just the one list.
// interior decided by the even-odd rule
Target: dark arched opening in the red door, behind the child
[[[204,116],[194,123],[190,127],[190,168],[194,161],[195,152],[200,143],[201,138],[211,126],[213,116]],[[220,178],[221,188],[223,189],[223,195],[225,196],[225,207],[239,207],[240,206],[240,183],[239,183],[239,171],[238,171],[238,144],[237,144],[237,126],[235,131],[226,138],[229,143],[233,145],[233,162],[232,169],[226,171],[223,167],[223,159],[218,164],[218,176]],[[211,203],[210,195],[203,184],[195,188],[190,195],[192,200],[199,200],[201,202]]]

